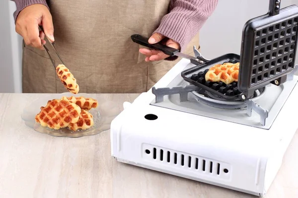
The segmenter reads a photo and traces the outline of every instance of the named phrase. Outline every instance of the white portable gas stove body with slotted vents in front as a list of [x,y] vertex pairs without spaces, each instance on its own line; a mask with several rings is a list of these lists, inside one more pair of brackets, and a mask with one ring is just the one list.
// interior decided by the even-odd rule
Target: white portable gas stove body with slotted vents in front
[[[166,87],[193,66],[180,60],[155,87]],[[154,99],[149,90],[124,103],[111,123],[113,157],[256,196],[268,191],[298,128],[296,116],[291,116],[298,111],[298,86],[269,130],[151,105]],[[157,119],[146,119],[148,114]]]

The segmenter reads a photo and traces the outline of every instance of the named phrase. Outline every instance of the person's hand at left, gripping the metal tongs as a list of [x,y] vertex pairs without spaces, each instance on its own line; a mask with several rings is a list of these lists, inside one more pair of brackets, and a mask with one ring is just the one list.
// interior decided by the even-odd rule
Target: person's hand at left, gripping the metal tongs
[[33,4],[20,11],[15,31],[23,37],[26,45],[43,49],[42,44],[46,44],[46,41],[44,33],[39,31],[40,25],[43,26],[47,37],[54,42],[54,26],[49,9],[42,4]]

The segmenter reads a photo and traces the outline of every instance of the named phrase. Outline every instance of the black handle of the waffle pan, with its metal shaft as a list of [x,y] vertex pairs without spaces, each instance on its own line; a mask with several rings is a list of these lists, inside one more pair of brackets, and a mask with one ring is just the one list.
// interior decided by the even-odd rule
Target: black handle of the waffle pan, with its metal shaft
[[197,57],[193,57],[184,53],[181,53],[179,49],[175,49],[175,48],[170,48],[168,46],[162,45],[160,43],[157,44],[149,44],[148,40],[149,38],[145,38],[139,34],[134,34],[131,36],[133,42],[140,44],[142,46],[151,48],[151,49],[156,49],[156,50],[160,50],[163,53],[169,55],[169,56],[180,56],[189,60],[195,60],[197,62],[202,61],[202,62],[207,62],[208,59],[204,58],[201,53],[199,51],[197,51],[198,56]]

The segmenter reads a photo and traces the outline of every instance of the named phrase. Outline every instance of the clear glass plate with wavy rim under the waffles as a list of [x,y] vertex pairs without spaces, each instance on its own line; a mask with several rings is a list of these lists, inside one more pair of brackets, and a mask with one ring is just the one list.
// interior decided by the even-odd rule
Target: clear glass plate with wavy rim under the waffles
[[[63,96],[66,97],[80,97],[96,99],[98,105],[96,108],[92,108],[89,112],[93,115],[94,125],[86,130],[71,131],[68,128],[61,128],[59,130],[50,129],[48,127],[43,127],[35,121],[35,115],[40,112],[41,106],[46,106],[47,102],[52,99],[61,99]],[[72,93],[62,93],[62,94],[51,94],[45,97],[36,99],[32,101],[30,105],[24,108],[21,115],[25,124],[34,129],[35,131],[48,134],[55,137],[69,137],[78,138],[83,136],[91,136],[99,134],[103,131],[110,129],[110,124],[112,120],[120,113],[120,109],[117,108],[116,103],[107,101],[106,99],[96,96],[95,94],[72,94]]]

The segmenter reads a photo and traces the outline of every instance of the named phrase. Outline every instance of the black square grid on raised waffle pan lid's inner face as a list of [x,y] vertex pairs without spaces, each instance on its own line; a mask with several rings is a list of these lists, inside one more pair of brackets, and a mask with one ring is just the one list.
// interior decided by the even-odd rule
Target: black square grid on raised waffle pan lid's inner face
[[298,17],[255,32],[251,85],[294,68]]

